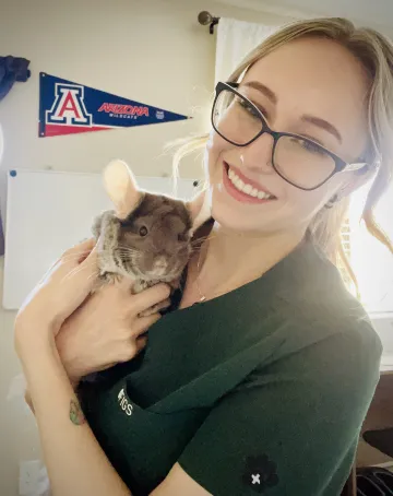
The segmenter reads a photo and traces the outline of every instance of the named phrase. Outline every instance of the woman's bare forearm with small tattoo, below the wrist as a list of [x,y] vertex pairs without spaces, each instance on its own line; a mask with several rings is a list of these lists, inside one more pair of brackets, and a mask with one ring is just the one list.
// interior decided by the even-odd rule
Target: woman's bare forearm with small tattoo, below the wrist
[[84,420],[55,343],[40,341],[39,362],[23,364],[25,398],[36,416],[52,495],[130,495]]

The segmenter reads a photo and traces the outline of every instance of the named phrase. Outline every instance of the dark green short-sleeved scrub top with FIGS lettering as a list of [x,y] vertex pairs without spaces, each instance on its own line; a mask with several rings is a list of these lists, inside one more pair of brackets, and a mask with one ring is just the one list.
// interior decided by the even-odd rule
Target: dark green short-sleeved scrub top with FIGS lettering
[[308,240],[260,279],[175,305],[140,355],[82,381],[79,394],[133,496],[148,495],[176,462],[214,496],[337,496],[381,351],[367,314]]

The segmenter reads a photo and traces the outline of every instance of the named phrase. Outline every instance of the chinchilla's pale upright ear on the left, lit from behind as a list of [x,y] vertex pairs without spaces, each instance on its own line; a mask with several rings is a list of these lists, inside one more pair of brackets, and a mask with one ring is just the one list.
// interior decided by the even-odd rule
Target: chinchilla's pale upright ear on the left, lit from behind
[[104,185],[119,219],[127,219],[141,202],[142,192],[126,162],[116,160],[105,167]]

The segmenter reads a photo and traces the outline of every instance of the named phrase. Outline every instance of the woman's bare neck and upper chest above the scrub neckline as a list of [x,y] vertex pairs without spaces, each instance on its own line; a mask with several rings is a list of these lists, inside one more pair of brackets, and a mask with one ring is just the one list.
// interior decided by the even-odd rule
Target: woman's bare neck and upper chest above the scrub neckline
[[216,222],[195,253],[194,280],[201,296],[211,298],[260,277],[302,240],[303,233],[239,233]]

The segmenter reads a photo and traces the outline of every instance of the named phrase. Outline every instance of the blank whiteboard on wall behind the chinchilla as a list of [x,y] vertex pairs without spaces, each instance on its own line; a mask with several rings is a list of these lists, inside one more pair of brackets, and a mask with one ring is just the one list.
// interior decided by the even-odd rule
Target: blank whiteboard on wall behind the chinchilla
[[[172,194],[171,178],[136,177],[147,191]],[[178,197],[194,194],[192,179],[178,180]],[[20,308],[52,262],[92,236],[93,219],[111,209],[100,174],[9,170],[3,307]]]

